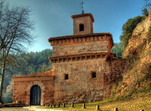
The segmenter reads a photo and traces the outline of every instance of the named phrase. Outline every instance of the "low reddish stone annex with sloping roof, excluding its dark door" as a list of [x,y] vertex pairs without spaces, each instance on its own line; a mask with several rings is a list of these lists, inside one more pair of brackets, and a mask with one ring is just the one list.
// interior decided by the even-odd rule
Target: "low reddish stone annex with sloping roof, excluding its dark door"
[[30,90],[32,86],[38,85],[41,88],[41,105],[54,102],[54,75],[53,71],[37,74],[28,74],[13,78],[13,101],[30,104]]

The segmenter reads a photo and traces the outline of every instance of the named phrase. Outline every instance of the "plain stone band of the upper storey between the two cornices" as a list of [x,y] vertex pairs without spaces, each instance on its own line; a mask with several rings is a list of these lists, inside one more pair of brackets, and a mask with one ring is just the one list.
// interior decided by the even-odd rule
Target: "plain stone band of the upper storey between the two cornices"
[[53,46],[52,56],[64,56],[82,53],[96,53],[96,52],[107,52],[108,51],[108,41],[100,40],[85,43],[76,43],[72,45],[64,46]]

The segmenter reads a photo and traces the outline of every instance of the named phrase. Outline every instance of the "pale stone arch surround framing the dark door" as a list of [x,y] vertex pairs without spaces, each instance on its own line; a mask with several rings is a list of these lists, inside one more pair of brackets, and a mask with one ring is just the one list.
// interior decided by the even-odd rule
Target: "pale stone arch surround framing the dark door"
[[38,85],[41,88],[41,105],[44,103],[44,85],[40,81],[31,81],[27,86],[27,104],[30,104],[30,90],[33,86]]

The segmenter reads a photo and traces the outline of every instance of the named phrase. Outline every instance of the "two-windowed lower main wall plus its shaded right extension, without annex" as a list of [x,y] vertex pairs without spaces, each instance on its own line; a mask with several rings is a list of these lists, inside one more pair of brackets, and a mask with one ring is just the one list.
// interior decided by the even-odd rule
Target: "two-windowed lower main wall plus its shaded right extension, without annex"
[[[112,95],[112,84],[128,67],[125,59],[105,58],[55,63],[55,103],[99,101]],[[96,72],[96,78],[92,78]],[[69,79],[65,80],[65,74]]]

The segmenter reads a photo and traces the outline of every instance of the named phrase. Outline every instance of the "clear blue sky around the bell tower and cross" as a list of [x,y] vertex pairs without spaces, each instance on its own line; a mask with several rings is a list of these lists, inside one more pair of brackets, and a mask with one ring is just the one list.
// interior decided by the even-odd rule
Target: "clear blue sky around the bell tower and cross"
[[85,13],[92,13],[94,33],[110,32],[114,43],[120,42],[122,26],[129,19],[142,15],[145,0],[5,0],[11,7],[29,7],[35,29],[28,52],[52,49],[50,37],[73,35],[72,15],[80,14],[81,2]]

